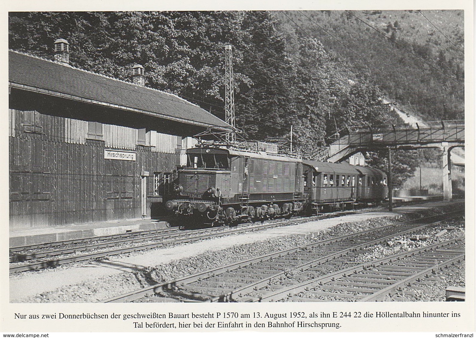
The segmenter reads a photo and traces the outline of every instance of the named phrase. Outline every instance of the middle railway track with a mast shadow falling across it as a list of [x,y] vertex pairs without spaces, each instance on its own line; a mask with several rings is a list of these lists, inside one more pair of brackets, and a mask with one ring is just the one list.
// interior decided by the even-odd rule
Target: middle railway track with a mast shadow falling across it
[[[277,251],[261,257],[241,261],[217,269],[208,270],[137,290],[104,302],[129,302],[159,294],[180,301],[250,301],[259,299],[253,295],[269,288],[278,280],[289,276],[322,273],[323,266],[332,270],[333,264],[348,261],[353,253],[369,246],[385,242],[398,235],[418,232],[428,226],[457,217],[456,210],[443,215],[400,222],[397,224],[356,232],[346,236],[317,241],[285,251]],[[355,264],[354,264],[355,265]],[[298,284],[302,280],[294,281]],[[259,293],[258,292],[258,293]]]

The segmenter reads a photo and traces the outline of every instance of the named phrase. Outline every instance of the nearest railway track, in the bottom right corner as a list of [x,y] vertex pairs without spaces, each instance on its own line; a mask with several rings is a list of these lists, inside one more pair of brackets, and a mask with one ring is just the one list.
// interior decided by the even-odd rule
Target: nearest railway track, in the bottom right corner
[[465,239],[435,243],[340,270],[248,301],[381,301],[465,259]]

